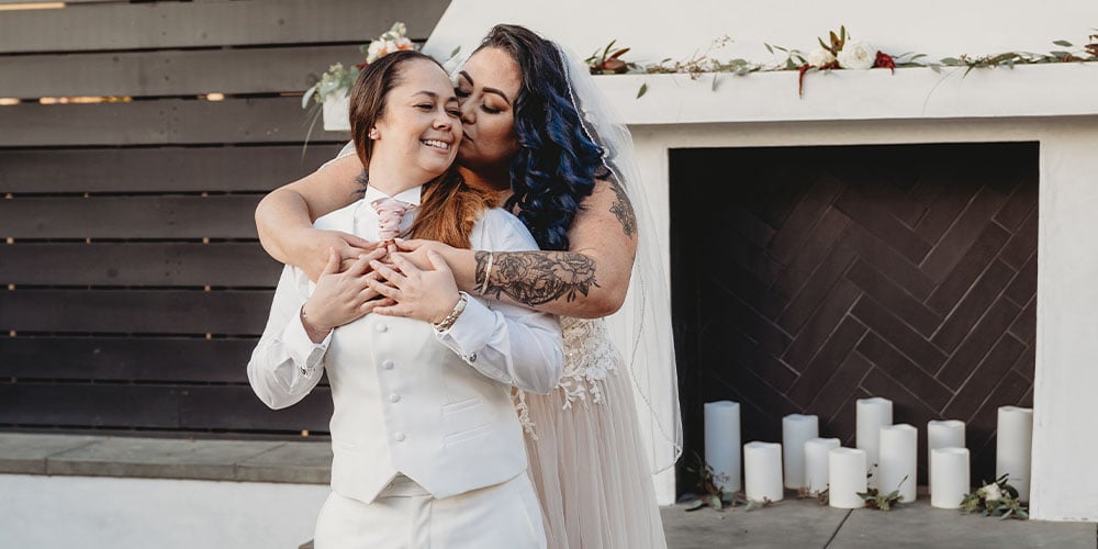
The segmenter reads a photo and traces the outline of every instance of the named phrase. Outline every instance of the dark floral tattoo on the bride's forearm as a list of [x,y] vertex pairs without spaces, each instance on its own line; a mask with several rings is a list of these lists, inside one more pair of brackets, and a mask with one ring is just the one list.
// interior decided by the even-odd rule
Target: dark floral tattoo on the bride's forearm
[[[595,261],[570,251],[495,251],[488,272],[488,251],[478,251],[474,283],[485,298],[505,295],[535,306],[563,298],[587,295],[595,281]],[[488,278],[488,283],[484,283]]]

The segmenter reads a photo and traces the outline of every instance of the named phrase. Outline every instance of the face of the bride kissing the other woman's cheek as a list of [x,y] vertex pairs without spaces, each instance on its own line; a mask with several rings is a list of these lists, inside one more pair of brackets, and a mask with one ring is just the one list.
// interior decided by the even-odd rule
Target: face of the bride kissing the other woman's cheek
[[456,83],[464,124],[461,166],[506,173],[519,148],[515,133],[515,101],[522,87],[518,63],[501,48],[485,47],[469,57]]

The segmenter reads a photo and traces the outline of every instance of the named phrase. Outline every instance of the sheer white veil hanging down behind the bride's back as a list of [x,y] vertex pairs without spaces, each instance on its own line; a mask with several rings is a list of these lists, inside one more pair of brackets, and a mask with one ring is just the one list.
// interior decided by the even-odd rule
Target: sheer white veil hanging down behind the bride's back
[[652,472],[658,473],[674,466],[683,449],[671,289],[661,261],[659,238],[628,126],[595,86],[580,58],[554,45],[584,131],[603,148],[603,164],[625,189],[637,217],[637,257],[629,293],[621,310],[607,317],[607,324],[621,345],[619,350],[638,395],[638,423],[648,444],[648,462]]

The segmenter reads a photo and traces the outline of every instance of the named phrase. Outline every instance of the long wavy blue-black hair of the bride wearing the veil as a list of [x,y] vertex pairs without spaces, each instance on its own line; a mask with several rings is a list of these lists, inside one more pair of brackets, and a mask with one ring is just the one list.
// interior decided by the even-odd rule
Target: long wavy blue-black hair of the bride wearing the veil
[[506,52],[522,70],[515,100],[519,152],[511,164],[513,194],[506,208],[530,229],[546,250],[568,249],[568,228],[595,180],[609,176],[603,149],[583,131],[569,94],[557,46],[518,25],[489,31],[478,51]]

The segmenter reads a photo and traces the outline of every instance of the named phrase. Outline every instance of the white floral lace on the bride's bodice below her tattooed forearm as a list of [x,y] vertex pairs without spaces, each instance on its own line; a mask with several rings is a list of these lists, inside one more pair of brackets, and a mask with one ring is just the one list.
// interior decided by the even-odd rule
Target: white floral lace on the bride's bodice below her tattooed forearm
[[[573,402],[603,403],[603,381],[607,376],[618,373],[617,349],[610,341],[602,318],[573,318],[561,316],[560,325],[564,335],[564,373],[553,391],[564,393],[563,410]],[[535,425],[526,405],[526,394],[515,391],[515,411],[523,429],[535,440]],[[591,396],[590,401],[587,396]]]

